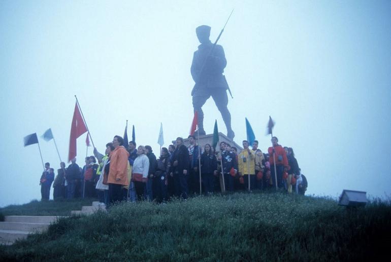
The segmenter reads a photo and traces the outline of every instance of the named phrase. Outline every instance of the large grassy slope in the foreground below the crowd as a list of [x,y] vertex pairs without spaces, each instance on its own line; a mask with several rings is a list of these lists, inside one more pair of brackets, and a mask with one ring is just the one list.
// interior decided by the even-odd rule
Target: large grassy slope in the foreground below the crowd
[[387,254],[390,236],[389,202],[347,210],[327,198],[237,193],[62,218],[0,247],[0,260],[369,260]]

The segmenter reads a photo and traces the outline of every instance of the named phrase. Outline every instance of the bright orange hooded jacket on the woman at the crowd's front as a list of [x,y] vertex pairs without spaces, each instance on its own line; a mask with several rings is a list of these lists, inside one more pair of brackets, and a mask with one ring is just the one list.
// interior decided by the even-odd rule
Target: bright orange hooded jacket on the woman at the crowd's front
[[[107,179],[108,183],[122,185],[129,184],[129,181],[127,180],[128,157],[129,153],[122,145],[117,146],[117,148],[115,148],[114,151],[111,152],[109,177]],[[117,178],[119,178],[118,181]]]

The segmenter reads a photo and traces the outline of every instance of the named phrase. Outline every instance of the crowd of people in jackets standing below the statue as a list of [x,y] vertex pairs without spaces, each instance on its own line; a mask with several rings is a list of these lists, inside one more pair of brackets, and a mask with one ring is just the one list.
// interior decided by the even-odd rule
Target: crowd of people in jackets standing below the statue
[[189,135],[188,141],[186,146],[178,137],[175,145],[161,147],[156,158],[151,146],[137,147],[130,141],[125,147],[116,135],[106,144],[105,154],[94,148],[94,156],[85,158],[83,168],[76,158],[68,168],[61,162],[54,178],[54,169],[46,163],[40,181],[42,200],[49,200],[52,182],[54,200],[97,197],[102,206],[121,201],[160,203],[200,193],[279,190],[304,195],[307,190],[294,150],[279,145],[277,137],[266,154],[257,140],[251,148],[243,140],[240,152],[227,142],[201,148],[195,136]]

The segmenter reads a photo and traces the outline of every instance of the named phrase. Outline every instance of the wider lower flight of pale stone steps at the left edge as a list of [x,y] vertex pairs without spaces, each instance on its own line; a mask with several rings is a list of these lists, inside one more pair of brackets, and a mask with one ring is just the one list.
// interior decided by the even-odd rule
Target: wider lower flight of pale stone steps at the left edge
[[0,222],[0,244],[11,245],[28,234],[41,233],[57,220],[57,216],[10,215]]

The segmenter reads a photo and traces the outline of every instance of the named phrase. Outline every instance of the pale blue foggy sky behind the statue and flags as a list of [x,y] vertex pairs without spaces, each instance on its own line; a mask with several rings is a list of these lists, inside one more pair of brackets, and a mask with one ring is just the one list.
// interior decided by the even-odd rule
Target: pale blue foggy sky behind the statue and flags
[[[391,2],[1,1],[0,206],[41,198],[38,146],[23,147],[24,136],[52,128],[67,160],[74,95],[101,152],[126,120],[137,144],[156,155],[160,122],[165,146],[187,137],[195,28],[210,25],[214,42],[234,8],[219,41],[234,140],[246,139],[247,117],[266,152],[271,115],[273,134],[294,148],[307,194],[388,197]],[[217,119],[225,133],[212,99],[203,109],[206,132]],[[44,162],[59,168],[53,141],[40,145]]]

